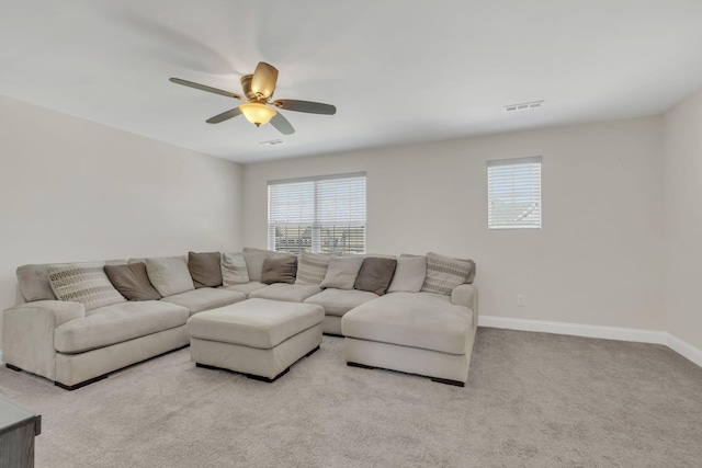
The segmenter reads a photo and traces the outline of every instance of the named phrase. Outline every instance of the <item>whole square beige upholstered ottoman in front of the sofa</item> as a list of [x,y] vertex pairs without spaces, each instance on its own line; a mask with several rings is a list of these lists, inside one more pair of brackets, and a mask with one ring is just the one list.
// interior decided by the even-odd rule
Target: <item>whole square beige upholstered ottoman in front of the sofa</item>
[[319,349],[324,318],[321,306],[268,299],[195,313],[188,320],[190,357],[199,367],[274,381]]

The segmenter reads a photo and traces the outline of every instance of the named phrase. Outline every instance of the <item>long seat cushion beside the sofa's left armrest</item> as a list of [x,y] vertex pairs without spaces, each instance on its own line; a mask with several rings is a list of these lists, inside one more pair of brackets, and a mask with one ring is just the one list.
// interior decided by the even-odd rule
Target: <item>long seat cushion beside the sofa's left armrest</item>
[[59,353],[82,353],[181,327],[189,317],[186,308],[160,300],[113,304],[58,326],[54,347]]

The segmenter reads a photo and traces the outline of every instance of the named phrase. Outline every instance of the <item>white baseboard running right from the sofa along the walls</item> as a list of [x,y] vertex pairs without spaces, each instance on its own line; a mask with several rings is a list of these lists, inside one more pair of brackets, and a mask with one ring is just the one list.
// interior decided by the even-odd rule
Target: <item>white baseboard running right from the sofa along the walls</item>
[[511,319],[494,316],[479,316],[478,327],[664,344],[702,367],[702,350],[665,331],[550,322],[545,320]]

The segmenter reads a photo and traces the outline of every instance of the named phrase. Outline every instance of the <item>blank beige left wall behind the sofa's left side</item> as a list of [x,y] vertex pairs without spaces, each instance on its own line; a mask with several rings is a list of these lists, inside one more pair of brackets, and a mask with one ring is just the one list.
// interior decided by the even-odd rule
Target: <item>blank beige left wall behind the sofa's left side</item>
[[1,96],[0,151],[0,310],[21,264],[241,247],[240,164]]

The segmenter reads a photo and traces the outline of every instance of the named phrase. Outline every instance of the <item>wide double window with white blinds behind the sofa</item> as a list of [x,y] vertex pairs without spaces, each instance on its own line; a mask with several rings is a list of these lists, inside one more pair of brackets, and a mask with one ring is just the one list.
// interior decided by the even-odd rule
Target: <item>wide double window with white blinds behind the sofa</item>
[[365,252],[365,172],[269,182],[268,247]]

